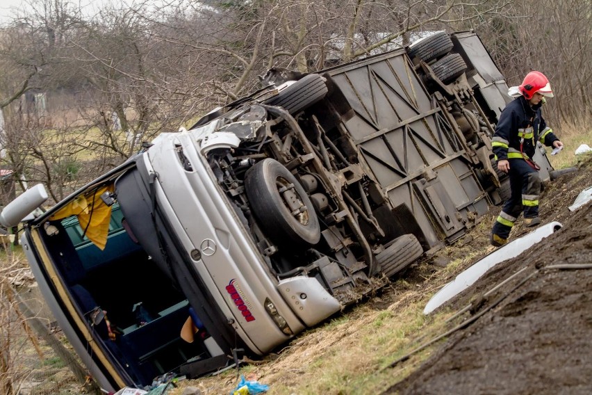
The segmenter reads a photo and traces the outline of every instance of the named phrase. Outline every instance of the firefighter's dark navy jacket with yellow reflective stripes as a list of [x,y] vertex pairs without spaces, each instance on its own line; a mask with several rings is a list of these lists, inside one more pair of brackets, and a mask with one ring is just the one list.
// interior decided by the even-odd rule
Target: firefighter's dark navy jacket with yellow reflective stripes
[[520,96],[504,108],[491,143],[496,160],[531,159],[537,141],[550,147],[559,140],[541,116],[542,104],[531,107]]

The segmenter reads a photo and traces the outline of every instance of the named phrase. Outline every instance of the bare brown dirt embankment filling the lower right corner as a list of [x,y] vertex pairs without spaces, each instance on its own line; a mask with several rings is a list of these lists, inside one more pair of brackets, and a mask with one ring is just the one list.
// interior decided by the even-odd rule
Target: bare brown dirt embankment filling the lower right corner
[[[470,314],[488,309],[483,316],[386,394],[592,394],[592,270],[585,268],[592,264],[592,203],[567,209],[591,185],[588,160],[548,187],[543,223],[559,220],[564,227],[454,300],[457,309],[477,305],[479,295],[525,268],[479,300]],[[525,232],[518,227],[512,237]]]

